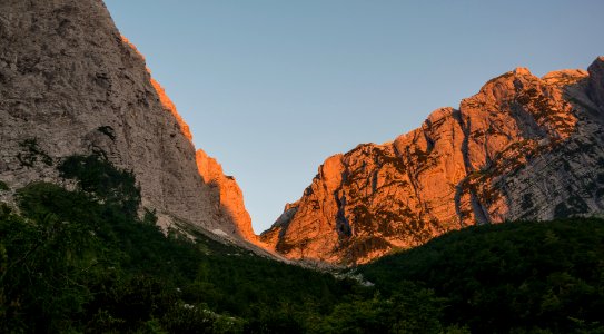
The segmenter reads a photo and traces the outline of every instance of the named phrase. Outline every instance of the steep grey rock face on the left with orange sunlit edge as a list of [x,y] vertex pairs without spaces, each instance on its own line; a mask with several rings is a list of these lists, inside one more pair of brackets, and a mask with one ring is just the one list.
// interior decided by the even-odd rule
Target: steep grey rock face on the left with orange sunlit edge
[[[217,193],[220,171],[199,175],[188,126],[100,0],[0,2],[0,179],[12,188],[58,181],[62,157],[103,151],[135,173],[162,225],[236,239],[251,230],[235,180]],[[48,158],[23,161],[32,144]]]

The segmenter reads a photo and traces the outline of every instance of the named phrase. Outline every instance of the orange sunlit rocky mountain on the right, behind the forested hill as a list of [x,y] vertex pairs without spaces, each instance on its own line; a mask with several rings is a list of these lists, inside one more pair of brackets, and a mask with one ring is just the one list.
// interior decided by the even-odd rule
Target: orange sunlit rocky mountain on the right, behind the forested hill
[[392,143],[329,157],[260,239],[294,259],[358,264],[448,230],[604,213],[604,57],[517,68]]

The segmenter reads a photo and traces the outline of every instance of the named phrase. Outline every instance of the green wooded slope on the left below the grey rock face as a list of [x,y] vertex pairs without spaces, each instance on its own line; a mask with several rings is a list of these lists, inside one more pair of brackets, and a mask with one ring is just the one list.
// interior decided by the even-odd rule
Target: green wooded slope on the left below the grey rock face
[[[0,332],[303,332],[358,284],[142,219],[131,173],[100,156],[58,167],[0,215]],[[137,204],[137,205],[135,205]],[[368,296],[368,295],[367,295]]]

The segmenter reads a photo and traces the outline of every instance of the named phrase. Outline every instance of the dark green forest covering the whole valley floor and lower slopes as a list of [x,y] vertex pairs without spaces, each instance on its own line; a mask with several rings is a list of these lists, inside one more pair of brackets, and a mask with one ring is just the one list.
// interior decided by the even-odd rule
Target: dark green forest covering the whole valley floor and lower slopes
[[56,166],[75,189],[0,204],[1,333],[604,333],[602,219],[469,227],[319,272],[165,235],[102,155]]

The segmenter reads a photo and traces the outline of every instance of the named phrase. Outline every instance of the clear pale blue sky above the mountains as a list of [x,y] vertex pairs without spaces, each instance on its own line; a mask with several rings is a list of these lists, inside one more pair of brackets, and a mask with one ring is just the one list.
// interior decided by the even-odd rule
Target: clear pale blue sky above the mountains
[[604,1],[106,0],[260,233],[328,156],[515,67],[604,55]]

